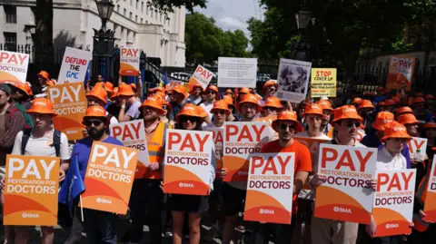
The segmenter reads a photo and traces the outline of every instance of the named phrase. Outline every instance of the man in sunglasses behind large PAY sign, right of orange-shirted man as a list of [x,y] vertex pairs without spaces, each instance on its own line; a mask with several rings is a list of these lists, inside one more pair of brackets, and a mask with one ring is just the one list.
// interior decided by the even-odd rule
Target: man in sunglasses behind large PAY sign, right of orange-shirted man
[[[332,140],[332,144],[365,147],[362,143],[357,142],[357,132],[363,119],[357,113],[357,110],[352,105],[345,105],[334,110],[334,119],[332,124],[336,137]],[[316,171],[314,169],[313,171]],[[315,173],[310,184],[312,188],[322,185],[327,178]],[[315,199],[316,201],[316,199]],[[327,220],[312,217],[312,243],[316,244],[355,244],[359,229],[358,223]]]

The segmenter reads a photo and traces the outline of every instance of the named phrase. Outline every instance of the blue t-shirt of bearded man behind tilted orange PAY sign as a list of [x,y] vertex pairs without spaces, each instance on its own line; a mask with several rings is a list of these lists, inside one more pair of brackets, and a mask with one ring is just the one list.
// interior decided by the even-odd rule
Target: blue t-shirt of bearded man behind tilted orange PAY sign
[[[80,141],[77,141],[74,145],[73,153],[71,155],[75,155],[77,153],[79,159],[79,171],[84,179],[84,174],[86,173],[86,168],[88,167],[89,154],[91,154],[91,148],[93,147],[93,140],[91,138],[86,137]],[[123,142],[120,142],[114,137],[109,136],[104,143],[110,143],[118,146],[124,146]]]

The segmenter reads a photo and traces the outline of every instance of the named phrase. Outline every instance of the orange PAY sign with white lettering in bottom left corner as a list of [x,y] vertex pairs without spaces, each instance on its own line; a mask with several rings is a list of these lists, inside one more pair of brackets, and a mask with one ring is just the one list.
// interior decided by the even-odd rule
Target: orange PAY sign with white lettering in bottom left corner
[[5,225],[57,225],[59,158],[6,156]]

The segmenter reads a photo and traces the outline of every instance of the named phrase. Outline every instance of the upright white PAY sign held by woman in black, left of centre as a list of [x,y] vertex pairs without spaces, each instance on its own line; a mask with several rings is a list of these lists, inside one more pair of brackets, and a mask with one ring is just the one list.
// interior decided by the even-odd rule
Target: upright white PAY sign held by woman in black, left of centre
[[163,192],[209,194],[213,132],[167,130]]

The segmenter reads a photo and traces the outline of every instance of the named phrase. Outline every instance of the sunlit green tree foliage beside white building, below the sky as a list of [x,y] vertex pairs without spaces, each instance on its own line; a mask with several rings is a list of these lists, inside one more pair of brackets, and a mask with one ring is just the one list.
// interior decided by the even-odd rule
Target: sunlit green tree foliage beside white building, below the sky
[[187,63],[214,63],[219,56],[247,56],[248,38],[243,31],[223,31],[213,18],[199,13],[186,16],[184,42]]

